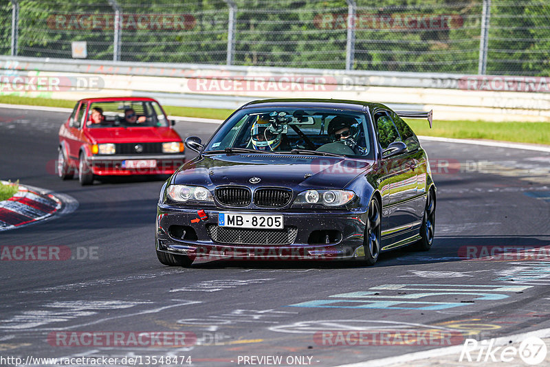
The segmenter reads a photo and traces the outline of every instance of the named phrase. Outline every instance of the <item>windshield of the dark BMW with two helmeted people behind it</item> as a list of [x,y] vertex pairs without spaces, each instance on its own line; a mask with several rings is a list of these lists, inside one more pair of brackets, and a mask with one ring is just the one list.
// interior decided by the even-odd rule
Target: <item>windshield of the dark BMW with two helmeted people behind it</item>
[[298,149],[366,157],[371,154],[370,142],[364,113],[279,107],[237,112],[212,137],[205,151],[246,148],[279,153]]

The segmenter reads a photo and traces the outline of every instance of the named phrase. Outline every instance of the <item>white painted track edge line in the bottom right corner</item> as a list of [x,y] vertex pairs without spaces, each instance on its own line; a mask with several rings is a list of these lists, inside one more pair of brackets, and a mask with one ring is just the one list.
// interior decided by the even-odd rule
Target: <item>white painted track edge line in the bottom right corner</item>
[[[509,344],[519,343],[527,337],[550,337],[550,329],[540,329],[536,331],[529,331],[528,333],[521,333],[515,335],[509,335],[506,337],[494,338],[494,346],[505,346]],[[510,341],[512,343],[510,343]],[[462,345],[446,346],[445,348],[430,349],[429,351],[407,353],[404,355],[397,355],[395,357],[387,357],[381,359],[371,359],[370,361],[358,362],[353,364],[341,364],[338,367],[385,367],[391,364],[406,363],[411,361],[418,361],[419,359],[428,359],[434,357],[443,357],[445,355],[456,354],[456,362],[459,362],[459,355],[462,351]]]

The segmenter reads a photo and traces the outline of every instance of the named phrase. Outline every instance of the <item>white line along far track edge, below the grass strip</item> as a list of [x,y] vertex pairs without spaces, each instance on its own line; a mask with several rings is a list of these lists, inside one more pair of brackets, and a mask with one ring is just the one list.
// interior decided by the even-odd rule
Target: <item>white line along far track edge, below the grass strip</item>
[[[61,107],[25,106],[23,104],[0,103],[0,108],[27,109],[32,111],[68,112],[68,113],[72,112],[72,109],[63,109]],[[188,122],[205,122],[207,124],[221,124],[223,122],[223,120],[214,120],[211,118],[188,118],[184,116],[168,116],[168,119],[188,121]],[[505,142],[487,142],[485,140],[451,139],[450,137],[435,137],[435,136],[423,136],[423,135],[419,135],[419,138],[421,140],[429,140],[432,142],[474,144],[474,145],[483,145],[483,146],[495,146],[498,148],[523,149],[524,151],[537,151],[537,152],[550,153],[550,146],[538,146],[538,145],[505,143]]]

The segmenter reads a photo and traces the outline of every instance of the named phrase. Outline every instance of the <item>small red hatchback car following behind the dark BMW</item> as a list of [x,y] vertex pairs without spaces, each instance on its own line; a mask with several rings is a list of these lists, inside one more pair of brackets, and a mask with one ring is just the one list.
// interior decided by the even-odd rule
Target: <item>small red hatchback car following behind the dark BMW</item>
[[79,100],[59,129],[58,175],[89,185],[96,176],[171,175],[184,143],[159,102],[118,97]]

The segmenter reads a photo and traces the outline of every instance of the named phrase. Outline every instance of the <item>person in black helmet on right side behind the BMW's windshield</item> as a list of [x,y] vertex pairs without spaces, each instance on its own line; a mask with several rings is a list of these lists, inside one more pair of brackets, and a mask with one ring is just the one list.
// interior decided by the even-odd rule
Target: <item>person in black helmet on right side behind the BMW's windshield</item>
[[342,155],[357,155],[352,147],[357,146],[353,141],[353,136],[358,132],[357,124],[354,118],[347,116],[336,116],[331,122],[329,122],[329,127],[327,129],[327,134],[329,135],[330,143],[320,146],[317,148],[317,151],[335,153]]

